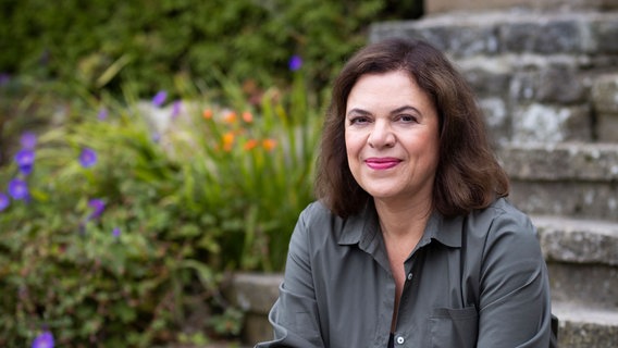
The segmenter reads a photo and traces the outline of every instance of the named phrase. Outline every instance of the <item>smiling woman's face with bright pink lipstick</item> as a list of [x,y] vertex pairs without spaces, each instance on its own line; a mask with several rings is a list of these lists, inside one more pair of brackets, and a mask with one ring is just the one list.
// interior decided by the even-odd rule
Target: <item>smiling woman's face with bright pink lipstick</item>
[[438,162],[438,117],[403,71],[362,75],[345,114],[348,165],[376,200],[431,202]]

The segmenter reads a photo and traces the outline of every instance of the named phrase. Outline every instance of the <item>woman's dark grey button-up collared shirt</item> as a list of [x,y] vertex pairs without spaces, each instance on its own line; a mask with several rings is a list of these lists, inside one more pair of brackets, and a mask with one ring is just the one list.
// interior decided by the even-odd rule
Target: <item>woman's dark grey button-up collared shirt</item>
[[[505,199],[434,212],[405,269],[395,347],[548,347],[546,265],[534,226]],[[289,243],[274,339],[256,347],[385,348],[394,306],[374,208],[344,220],[314,202]]]

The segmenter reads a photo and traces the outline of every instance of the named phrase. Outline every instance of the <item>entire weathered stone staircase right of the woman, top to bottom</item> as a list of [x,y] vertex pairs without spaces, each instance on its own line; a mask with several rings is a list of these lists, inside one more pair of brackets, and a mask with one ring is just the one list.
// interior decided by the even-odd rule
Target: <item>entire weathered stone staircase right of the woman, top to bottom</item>
[[618,5],[446,12],[374,24],[447,52],[539,229],[559,345],[618,347]]

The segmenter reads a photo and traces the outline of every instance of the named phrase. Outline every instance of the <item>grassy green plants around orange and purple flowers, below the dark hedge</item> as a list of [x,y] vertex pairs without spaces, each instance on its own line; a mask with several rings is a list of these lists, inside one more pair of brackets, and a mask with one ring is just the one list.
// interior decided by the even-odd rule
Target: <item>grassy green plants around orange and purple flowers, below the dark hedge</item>
[[[0,192],[16,177],[29,189],[0,211],[0,346],[44,328],[59,346],[237,335],[224,274],[281,270],[312,200],[321,117],[293,74],[292,90],[260,98],[227,78],[225,99],[176,79],[183,98],[165,107],[138,101],[131,86],[122,102],[76,94],[64,121],[39,134],[32,173],[0,166]],[[85,148],[92,166],[79,160]]]

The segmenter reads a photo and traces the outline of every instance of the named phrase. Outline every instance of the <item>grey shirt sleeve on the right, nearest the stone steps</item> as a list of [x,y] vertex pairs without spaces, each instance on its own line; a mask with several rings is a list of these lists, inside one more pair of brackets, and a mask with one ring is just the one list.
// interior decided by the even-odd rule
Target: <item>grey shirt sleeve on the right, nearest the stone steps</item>
[[493,221],[480,277],[477,347],[548,347],[547,268],[528,216],[505,212]]

